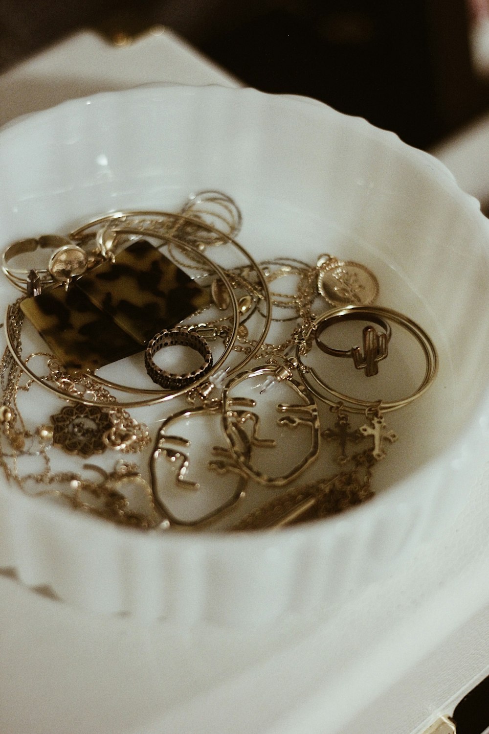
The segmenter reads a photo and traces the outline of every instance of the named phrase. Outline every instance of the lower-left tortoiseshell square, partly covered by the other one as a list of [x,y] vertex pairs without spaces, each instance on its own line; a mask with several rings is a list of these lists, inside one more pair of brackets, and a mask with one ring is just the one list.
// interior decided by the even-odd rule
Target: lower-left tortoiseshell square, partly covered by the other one
[[21,309],[67,371],[95,371],[141,352],[141,344],[73,288],[43,288],[21,301]]

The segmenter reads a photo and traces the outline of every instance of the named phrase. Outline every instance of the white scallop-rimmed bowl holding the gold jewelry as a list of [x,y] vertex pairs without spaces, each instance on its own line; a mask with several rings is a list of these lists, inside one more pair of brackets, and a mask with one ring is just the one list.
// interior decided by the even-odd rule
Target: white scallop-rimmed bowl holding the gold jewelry
[[[0,132],[0,246],[120,208],[220,189],[257,259],[330,252],[369,266],[380,305],[432,336],[432,390],[399,412],[374,501],[280,532],[133,532],[1,481],[0,567],[63,600],[224,625],[322,614],[454,517],[488,440],[489,225],[430,156],[321,103],[221,87],[69,101]],[[2,302],[15,292],[5,283]],[[401,415],[402,414],[402,415]],[[400,447],[400,448],[399,448]]]

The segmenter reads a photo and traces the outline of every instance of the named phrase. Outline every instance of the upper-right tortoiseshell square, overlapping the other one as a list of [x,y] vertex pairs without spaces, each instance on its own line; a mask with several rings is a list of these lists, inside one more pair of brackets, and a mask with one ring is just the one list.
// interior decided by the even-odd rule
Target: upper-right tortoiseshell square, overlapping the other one
[[72,287],[143,346],[210,303],[208,290],[144,239],[122,250],[114,262],[78,278]]

